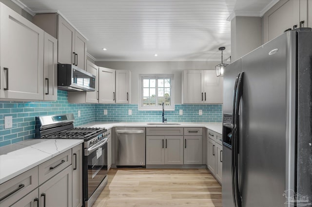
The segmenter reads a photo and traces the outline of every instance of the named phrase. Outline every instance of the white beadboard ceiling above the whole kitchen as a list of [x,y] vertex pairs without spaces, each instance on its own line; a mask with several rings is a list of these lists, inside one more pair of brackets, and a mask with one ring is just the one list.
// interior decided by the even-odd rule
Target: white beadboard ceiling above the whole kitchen
[[[262,16],[276,0],[13,0],[56,12],[87,39],[97,61],[220,61],[231,55],[227,18]],[[107,51],[103,51],[106,48]],[[158,54],[158,56],[154,56]]]

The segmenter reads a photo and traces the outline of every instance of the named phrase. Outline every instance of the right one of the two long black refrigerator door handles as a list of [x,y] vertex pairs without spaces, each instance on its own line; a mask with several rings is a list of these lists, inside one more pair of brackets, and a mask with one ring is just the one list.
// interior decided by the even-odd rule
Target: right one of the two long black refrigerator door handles
[[[236,100],[235,100],[235,114],[234,114],[234,147],[232,146],[232,150],[234,149],[234,188],[235,188],[235,200],[236,206],[242,206],[242,197],[239,190],[239,183],[238,183],[238,153],[239,153],[239,105],[240,100],[243,95],[243,77],[244,72],[241,72],[238,77],[237,88],[236,88]],[[233,139],[232,139],[233,140]]]

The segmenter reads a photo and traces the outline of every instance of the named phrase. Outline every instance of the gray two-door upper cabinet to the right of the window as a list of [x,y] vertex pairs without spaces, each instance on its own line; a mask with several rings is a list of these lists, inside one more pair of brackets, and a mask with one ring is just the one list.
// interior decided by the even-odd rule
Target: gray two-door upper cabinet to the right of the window
[[183,71],[183,104],[222,104],[223,77],[215,70]]

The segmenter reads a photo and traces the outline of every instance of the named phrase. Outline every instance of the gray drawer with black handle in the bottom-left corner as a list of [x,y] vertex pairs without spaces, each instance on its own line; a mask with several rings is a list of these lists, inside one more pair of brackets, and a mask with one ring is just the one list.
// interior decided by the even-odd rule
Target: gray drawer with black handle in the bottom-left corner
[[11,206],[37,187],[38,167],[35,167],[0,185],[0,206]]

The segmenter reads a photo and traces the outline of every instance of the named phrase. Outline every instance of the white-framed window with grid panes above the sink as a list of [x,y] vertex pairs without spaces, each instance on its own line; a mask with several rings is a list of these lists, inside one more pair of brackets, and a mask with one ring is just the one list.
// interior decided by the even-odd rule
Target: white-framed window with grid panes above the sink
[[139,110],[174,110],[173,74],[140,75]]

